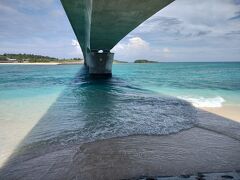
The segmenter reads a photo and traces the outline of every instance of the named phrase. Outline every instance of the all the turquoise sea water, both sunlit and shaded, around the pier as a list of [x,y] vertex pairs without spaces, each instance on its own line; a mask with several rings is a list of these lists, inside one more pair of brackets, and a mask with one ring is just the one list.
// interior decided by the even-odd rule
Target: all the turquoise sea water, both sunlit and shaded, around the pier
[[195,107],[240,107],[240,63],[0,65],[0,165],[19,146],[88,142],[191,128]]

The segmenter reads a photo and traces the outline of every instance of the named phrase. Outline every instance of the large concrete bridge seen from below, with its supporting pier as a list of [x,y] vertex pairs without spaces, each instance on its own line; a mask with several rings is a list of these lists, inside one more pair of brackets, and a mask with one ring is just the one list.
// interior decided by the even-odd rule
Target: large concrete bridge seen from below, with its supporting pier
[[174,0],[61,0],[91,75],[112,75],[110,50]]

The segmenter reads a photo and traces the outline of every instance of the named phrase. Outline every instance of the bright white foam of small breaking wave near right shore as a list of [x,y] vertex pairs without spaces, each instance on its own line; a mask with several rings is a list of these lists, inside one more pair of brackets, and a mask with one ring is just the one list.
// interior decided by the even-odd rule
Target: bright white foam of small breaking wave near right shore
[[205,98],[205,97],[188,97],[188,96],[179,96],[179,99],[186,100],[190,102],[195,107],[206,107],[206,108],[220,108],[222,107],[225,99],[221,96],[216,96],[213,98]]

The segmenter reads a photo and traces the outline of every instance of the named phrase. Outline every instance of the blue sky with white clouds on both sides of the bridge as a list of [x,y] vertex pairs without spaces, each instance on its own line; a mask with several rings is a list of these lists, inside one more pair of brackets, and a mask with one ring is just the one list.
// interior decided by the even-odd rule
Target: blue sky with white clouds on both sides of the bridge
[[[240,0],[175,0],[112,52],[124,61],[240,61]],[[3,53],[82,57],[60,0],[0,0]]]

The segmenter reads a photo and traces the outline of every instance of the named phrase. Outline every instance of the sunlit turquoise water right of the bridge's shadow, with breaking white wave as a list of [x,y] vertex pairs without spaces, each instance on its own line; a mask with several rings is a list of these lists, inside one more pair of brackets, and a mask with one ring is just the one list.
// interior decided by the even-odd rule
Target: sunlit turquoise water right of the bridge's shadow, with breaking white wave
[[196,107],[240,104],[239,62],[120,66],[124,68],[116,66],[114,70],[124,81],[143,89],[185,99]]

